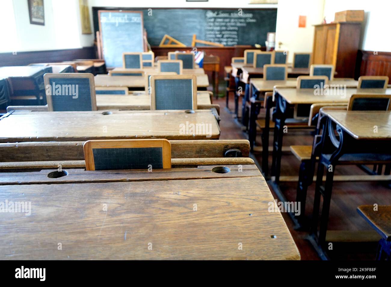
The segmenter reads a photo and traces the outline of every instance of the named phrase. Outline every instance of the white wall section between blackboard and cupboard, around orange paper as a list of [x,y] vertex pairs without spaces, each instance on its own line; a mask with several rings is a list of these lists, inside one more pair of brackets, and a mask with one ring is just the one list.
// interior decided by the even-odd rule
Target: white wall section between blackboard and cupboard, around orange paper
[[[324,0],[279,0],[277,6],[276,50],[288,50],[288,62],[293,53],[312,52],[314,27],[323,18]],[[299,16],[307,16],[305,28],[299,28]],[[282,42],[281,48],[278,43]]]

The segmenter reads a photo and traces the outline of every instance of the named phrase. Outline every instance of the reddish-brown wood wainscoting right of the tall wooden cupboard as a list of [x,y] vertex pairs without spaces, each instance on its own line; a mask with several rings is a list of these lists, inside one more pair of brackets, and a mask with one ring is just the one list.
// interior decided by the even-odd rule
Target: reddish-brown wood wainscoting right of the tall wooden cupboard
[[357,76],[388,76],[391,84],[391,52],[359,51]]

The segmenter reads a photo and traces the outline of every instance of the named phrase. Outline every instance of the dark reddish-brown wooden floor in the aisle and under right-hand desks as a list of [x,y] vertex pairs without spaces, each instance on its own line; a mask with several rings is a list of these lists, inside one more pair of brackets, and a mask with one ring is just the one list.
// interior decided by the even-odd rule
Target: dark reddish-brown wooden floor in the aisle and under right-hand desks
[[[213,100],[213,103],[220,105],[220,139],[248,139],[247,134],[242,132],[239,123],[233,118],[233,114],[227,111],[226,99],[219,98]],[[230,110],[233,111],[234,102],[233,94],[230,95]],[[261,114],[262,116],[262,114]],[[271,133],[270,139],[273,138]],[[257,145],[261,146],[260,135],[257,137]],[[292,144],[312,144],[313,136],[308,131],[292,131],[288,130],[287,135],[284,135],[283,146]],[[270,141],[271,146],[272,141]],[[258,163],[261,164],[260,154],[254,155]],[[269,168],[271,166],[271,153],[269,157]],[[281,164],[281,175],[298,176],[300,162],[292,153],[283,153]],[[335,175],[365,175],[364,171],[356,166],[337,166]],[[297,182],[287,182],[280,185],[281,190],[285,194],[288,201],[295,201]],[[272,190],[271,185],[269,188]],[[308,188],[306,215],[312,214],[312,204],[314,201],[314,184]],[[356,209],[359,205],[370,204],[391,204],[391,189],[382,185],[379,182],[336,182],[333,186],[332,202],[330,206],[330,217],[328,230],[366,230],[372,231],[371,227],[357,213]],[[308,232],[296,231],[293,229],[293,223],[290,217],[283,213],[283,217],[289,230],[292,233],[296,242],[301,259],[303,260],[319,260],[317,253],[305,239]],[[330,259],[334,260],[375,260],[377,242],[346,242],[333,243],[333,250],[328,251]]]

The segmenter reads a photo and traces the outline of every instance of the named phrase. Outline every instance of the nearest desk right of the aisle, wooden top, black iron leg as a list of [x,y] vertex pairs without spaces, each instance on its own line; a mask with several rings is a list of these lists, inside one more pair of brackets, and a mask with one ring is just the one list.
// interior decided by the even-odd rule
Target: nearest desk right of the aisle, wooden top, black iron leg
[[[322,249],[326,241],[328,214],[332,194],[333,177],[339,160],[353,160],[356,162],[391,162],[389,147],[391,145],[391,112],[390,111],[338,111],[323,110],[321,152],[316,175],[314,197],[314,212],[312,214],[311,243],[322,258],[327,258]],[[338,128],[339,139],[333,143],[330,134],[335,137],[334,126]],[[378,127],[374,132],[374,126]],[[330,165],[333,167],[330,169]],[[323,174],[326,167],[326,181],[324,187]],[[318,228],[319,207],[323,195],[323,207]],[[379,204],[382,204],[381,202]],[[319,235],[318,235],[319,229]]]

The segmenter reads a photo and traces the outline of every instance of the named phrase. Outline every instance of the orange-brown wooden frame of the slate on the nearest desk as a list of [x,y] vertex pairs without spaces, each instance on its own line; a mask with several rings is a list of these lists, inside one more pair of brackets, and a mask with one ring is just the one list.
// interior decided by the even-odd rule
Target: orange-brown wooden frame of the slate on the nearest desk
[[93,149],[97,148],[162,148],[163,169],[171,168],[171,144],[167,139],[92,140],[83,144],[86,170],[95,170]]

